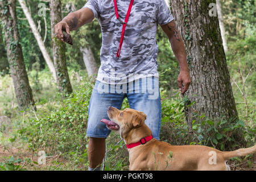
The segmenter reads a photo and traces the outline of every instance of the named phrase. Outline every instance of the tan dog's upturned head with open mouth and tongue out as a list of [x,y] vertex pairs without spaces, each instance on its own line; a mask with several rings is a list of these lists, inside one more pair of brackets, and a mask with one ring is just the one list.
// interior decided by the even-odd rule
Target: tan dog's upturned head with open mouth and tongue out
[[141,111],[134,109],[119,110],[115,107],[110,106],[108,109],[109,120],[102,119],[108,129],[112,131],[119,131],[122,138],[126,138],[129,133],[138,129],[144,124],[146,120],[146,114]]

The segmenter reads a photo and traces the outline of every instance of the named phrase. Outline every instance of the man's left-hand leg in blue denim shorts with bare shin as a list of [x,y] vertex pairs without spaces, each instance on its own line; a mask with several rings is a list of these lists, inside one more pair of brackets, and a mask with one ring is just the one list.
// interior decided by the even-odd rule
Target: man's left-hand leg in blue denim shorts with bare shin
[[[114,106],[121,109],[124,94],[102,93],[100,81],[96,81],[93,93],[90,98],[88,111],[88,126],[86,136],[90,137],[88,146],[89,169],[100,169],[102,160],[105,155],[105,139],[110,134],[110,130],[106,127],[101,119],[109,119],[108,107]],[[104,85],[109,86],[109,85]]]

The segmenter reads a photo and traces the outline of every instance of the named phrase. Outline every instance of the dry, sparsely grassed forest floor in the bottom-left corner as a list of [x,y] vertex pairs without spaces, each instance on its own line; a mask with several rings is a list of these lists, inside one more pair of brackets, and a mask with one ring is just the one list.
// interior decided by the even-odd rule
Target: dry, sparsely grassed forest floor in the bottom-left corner
[[[11,164],[16,166],[15,170],[26,171],[72,171],[73,166],[69,165],[69,162],[65,160],[61,155],[47,156],[45,164],[40,161],[40,156],[36,152],[32,152],[26,143],[21,142],[19,139],[14,142],[9,142],[10,136],[6,133],[2,133],[2,140],[0,140],[0,171],[1,163]],[[0,139],[1,139],[0,137]],[[7,140],[6,140],[7,139]],[[10,160],[10,159],[14,160]],[[16,160],[16,161],[15,161]],[[17,162],[19,160],[19,162]],[[67,165],[66,165],[67,164]],[[84,167],[76,168],[76,170],[82,170]],[[11,168],[9,167],[9,170]]]

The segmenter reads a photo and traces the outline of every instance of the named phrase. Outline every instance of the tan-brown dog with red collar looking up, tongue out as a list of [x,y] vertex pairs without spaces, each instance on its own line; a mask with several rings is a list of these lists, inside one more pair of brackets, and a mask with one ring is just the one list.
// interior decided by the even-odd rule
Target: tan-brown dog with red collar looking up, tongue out
[[146,115],[141,111],[110,106],[108,116],[111,121],[102,122],[110,130],[119,131],[125,141],[130,170],[229,170],[227,159],[256,152],[256,145],[231,152],[206,146],[172,146],[151,139],[151,130],[144,123]]

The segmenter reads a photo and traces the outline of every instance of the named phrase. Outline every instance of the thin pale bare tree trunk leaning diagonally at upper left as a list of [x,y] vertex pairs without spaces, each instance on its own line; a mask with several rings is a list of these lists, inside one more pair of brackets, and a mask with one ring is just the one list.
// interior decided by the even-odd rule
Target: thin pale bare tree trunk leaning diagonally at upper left
[[49,54],[46,50],[46,47],[44,46],[42,37],[39,34],[38,29],[36,28],[35,22],[32,19],[32,16],[31,16],[30,12],[28,11],[28,8],[26,6],[26,2],[24,0],[18,0],[18,1],[19,1],[20,6],[22,7],[22,10],[23,10],[23,12],[24,12],[24,14],[25,14],[25,16],[28,20],[28,23],[30,24],[31,30],[32,30],[35,38],[36,38],[36,41],[38,42],[38,46],[39,46],[39,48],[40,48],[40,50],[43,54],[44,60],[46,60],[46,64],[48,65],[49,70],[51,71],[52,76],[56,81],[56,72],[55,72],[54,65],[52,63],[51,57],[49,56]]

